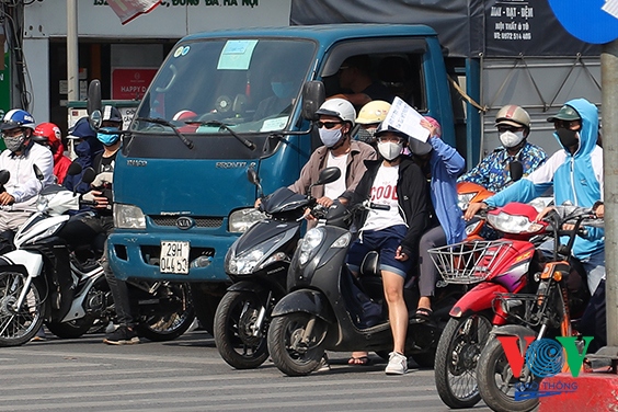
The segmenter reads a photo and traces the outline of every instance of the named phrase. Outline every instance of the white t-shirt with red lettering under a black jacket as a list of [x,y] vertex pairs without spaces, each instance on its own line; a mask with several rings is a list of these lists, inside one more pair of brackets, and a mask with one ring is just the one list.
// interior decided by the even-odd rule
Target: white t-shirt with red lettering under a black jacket
[[[378,205],[388,205],[390,209],[369,209],[365,226],[360,230],[381,230],[391,226],[405,225],[399,213],[397,197],[397,179],[399,178],[399,164],[394,167],[380,165],[378,174],[371,186],[370,202]],[[408,225],[405,225],[408,226]]]

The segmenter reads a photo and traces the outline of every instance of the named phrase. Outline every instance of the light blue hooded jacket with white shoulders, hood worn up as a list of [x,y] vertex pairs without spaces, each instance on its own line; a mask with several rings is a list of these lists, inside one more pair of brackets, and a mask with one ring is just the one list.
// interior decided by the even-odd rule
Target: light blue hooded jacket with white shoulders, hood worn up
[[[557,205],[570,202],[574,206],[592,207],[603,201],[603,149],[596,145],[598,137],[598,110],[585,99],[565,103],[582,117],[580,147],[574,154],[563,148],[539,169],[504,191],[485,199],[490,206],[504,206],[510,202],[527,203],[540,196],[553,184]],[[558,134],[553,136],[560,142]],[[586,228],[586,239],[576,237],[573,255],[585,260],[605,248],[605,231],[600,228]]]

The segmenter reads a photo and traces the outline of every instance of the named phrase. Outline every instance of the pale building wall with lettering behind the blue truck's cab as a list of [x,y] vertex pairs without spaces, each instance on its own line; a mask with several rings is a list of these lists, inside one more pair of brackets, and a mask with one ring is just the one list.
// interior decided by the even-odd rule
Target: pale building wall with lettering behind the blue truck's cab
[[[85,80],[101,75],[102,83],[107,84],[107,90],[103,90],[105,98],[105,93],[111,90],[110,77],[114,67],[156,68],[165,57],[170,45],[186,34],[225,28],[286,26],[289,24],[290,2],[291,0],[164,0],[150,13],[122,25],[103,0],[80,0],[80,69],[87,69]],[[31,111],[37,122],[54,117],[57,123],[62,123],[62,119],[58,119],[58,113],[66,113],[58,106],[67,104],[67,96],[62,96],[62,88],[57,85],[66,80],[66,71],[58,73],[58,70],[50,70],[49,67],[49,43],[64,42],[66,35],[66,1],[39,0],[25,5],[24,54],[32,83],[28,87],[32,94]],[[110,45],[111,49],[106,48]],[[82,58],[82,47],[90,48],[85,54],[88,58]],[[52,49],[66,53],[65,47]],[[57,60],[59,56],[54,58]],[[50,89],[60,90],[59,99],[57,93],[50,95]]]

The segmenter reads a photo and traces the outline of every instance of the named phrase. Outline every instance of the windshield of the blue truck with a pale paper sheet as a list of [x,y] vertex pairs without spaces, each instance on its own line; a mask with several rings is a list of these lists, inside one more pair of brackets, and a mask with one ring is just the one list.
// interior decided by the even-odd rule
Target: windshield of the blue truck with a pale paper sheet
[[[199,139],[236,140],[230,130],[250,139],[283,130],[314,53],[314,43],[298,39],[218,38],[181,43],[144,96],[130,127],[133,139],[145,135],[178,139],[170,125],[191,136],[196,146]],[[131,146],[141,146],[136,144]]]

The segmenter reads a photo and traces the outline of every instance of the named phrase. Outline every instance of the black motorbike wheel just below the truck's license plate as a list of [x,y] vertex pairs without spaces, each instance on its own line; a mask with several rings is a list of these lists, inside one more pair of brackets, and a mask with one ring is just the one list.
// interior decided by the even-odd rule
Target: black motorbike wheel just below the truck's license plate
[[195,319],[188,284],[167,283],[157,288],[152,299],[157,304],[138,302],[138,335],[153,342],[164,342],[186,332]]

